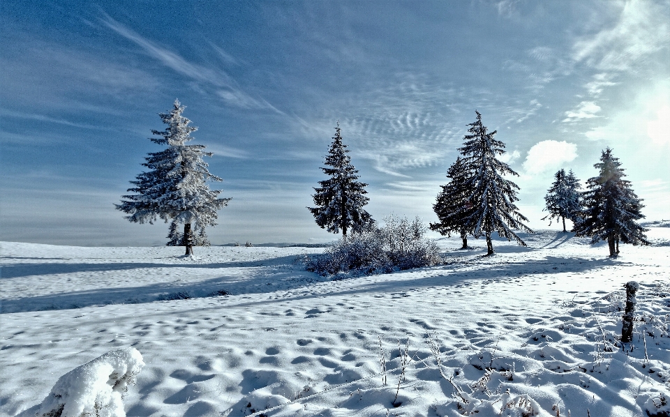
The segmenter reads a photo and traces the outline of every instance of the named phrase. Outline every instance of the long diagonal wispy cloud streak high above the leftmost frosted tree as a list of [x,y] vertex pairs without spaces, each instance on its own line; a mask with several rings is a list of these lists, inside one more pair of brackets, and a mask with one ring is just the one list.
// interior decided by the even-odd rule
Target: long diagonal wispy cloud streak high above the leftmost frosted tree
[[[244,89],[239,86],[237,81],[230,77],[228,73],[225,73],[225,71],[219,68],[207,68],[206,66],[191,63],[179,54],[172,52],[165,47],[161,47],[160,45],[151,42],[151,40],[140,36],[139,33],[133,31],[132,29],[128,29],[126,26],[112,19],[112,17],[108,15],[105,15],[105,18],[101,19],[101,22],[103,22],[105,26],[112,29],[114,32],[142,47],[144,52],[163,63],[163,65],[167,66],[168,68],[171,68],[175,72],[184,75],[185,77],[193,79],[195,82],[213,86],[216,96],[225,100],[226,103],[246,109],[271,109],[274,112],[281,113],[280,110],[268,103],[267,100],[259,97],[253,97],[246,93],[246,91],[244,91]],[[216,47],[215,50],[227,61],[233,61],[234,63],[237,63],[237,61],[234,60],[234,57],[226,54],[220,47]]]

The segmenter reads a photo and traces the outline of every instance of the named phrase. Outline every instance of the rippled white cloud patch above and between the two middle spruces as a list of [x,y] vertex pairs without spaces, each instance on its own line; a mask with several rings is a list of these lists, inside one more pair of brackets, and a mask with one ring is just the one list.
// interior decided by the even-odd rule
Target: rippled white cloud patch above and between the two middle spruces
[[466,121],[458,122],[463,120],[459,103],[469,103],[472,117],[466,120],[474,120],[470,100],[485,93],[454,89],[417,73],[396,73],[394,78],[396,82],[357,93],[345,105],[325,103],[328,116],[300,119],[296,128],[305,137],[327,138],[339,120],[354,165],[364,158],[375,171],[389,176],[410,178],[412,170],[433,166],[446,169],[466,128]]

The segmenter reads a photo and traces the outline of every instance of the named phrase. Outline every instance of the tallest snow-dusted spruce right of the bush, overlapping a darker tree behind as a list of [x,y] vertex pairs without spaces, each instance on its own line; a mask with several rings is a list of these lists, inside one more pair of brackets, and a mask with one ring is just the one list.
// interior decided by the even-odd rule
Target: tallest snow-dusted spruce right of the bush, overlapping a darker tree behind
[[519,235],[512,229],[533,233],[521,221],[528,221],[516,207],[519,201],[516,190],[519,186],[505,179],[505,174],[519,176],[505,162],[496,158],[505,153],[505,144],[493,137],[497,131],[487,132],[482,124],[482,114],[477,113],[477,121],[470,123],[470,135],[463,139],[463,147],[459,148],[463,155],[465,171],[470,172],[465,185],[470,190],[468,200],[472,203],[472,211],[463,218],[463,229],[472,236],[486,236],[487,255],[493,255],[491,233],[511,240],[514,238],[519,245],[526,246]]

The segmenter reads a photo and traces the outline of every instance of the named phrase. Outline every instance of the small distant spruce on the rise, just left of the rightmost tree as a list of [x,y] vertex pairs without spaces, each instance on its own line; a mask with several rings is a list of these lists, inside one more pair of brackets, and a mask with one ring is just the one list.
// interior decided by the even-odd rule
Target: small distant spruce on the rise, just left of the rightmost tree
[[581,213],[581,192],[579,192],[581,184],[572,173],[572,169],[567,174],[565,174],[565,169],[560,169],[554,174],[554,178],[556,181],[553,181],[551,188],[544,196],[546,202],[544,211],[549,211],[549,215],[544,216],[542,220],[549,219],[551,226],[553,218],[563,219],[563,232],[567,232],[565,219],[572,220],[574,223]]

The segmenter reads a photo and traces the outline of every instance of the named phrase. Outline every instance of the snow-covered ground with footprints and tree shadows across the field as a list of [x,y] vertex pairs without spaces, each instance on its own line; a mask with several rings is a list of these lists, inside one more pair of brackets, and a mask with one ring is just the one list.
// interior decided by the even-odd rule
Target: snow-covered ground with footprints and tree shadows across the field
[[443,266],[336,281],[295,263],[315,248],[0,243],[0,414],[34,415],[61,375],[119,347],[146,364],[128,416],[669,412],[670,228],[648,236],[618,259],[556,232],[493,257],[443,239]]

